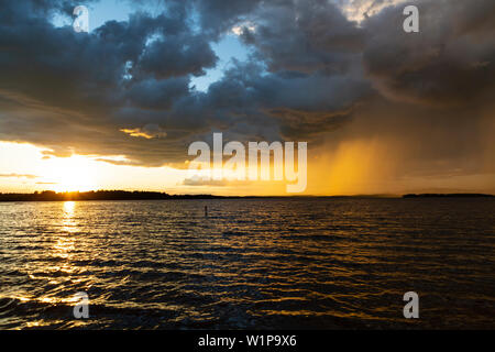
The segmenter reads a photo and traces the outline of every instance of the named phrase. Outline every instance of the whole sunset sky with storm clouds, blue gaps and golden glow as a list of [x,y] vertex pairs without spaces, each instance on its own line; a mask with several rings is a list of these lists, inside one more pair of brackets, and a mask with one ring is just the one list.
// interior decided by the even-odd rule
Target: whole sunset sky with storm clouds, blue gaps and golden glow
[[307,142],[307,195],[493,194],[494,32],[493,0],[4,1],[0,191],[287,195],[191,182],[221,132]]

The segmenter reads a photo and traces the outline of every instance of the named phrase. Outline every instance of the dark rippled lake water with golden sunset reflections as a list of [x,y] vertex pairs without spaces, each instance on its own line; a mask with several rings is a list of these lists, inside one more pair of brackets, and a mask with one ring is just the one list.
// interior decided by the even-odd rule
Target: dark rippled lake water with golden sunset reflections
[[[492,199],[0,204],[0,329],[494,329],[494,213]],[[89,319],[73,317],[77,292]]]

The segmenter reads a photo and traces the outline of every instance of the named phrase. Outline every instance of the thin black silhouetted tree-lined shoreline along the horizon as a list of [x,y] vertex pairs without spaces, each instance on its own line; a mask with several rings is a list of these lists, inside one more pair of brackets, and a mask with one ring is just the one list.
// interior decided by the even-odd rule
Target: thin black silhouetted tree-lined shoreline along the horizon
[[[256,199],[256,198],[400,198],[392,195],[356,196],[213,196],[213,195],[169,195],[160,191],[97,190],[55,193],[45,190],[33,194],[0,194],[1,201],[77,201],[77,200],[166,200],[166,199]],[[402,198],[485,198],[484,194],[409,194]]]

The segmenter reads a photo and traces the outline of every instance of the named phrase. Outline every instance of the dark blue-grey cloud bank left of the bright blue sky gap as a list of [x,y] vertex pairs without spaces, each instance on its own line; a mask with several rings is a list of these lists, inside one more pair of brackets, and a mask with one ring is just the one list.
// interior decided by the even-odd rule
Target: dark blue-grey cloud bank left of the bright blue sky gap
[[[44,3],[30,11],[19,7],[9,2],[0,9],[2,140],[47,146],[57,156],[127,155],[154,166],[184,158],[184,145],[179,153],[174,136],[187,136],[196,123],[180,125],[166,109],[189,94],[188,75],[211,67],[216,57],[180,13],[135,13],[85,34],[54,28]],[[146,46],[153,36],[157,40]],[[168,50],[165,65],[156,66]],[[119,120],[125,110],[135,114]],[[163,128],[170,119],[167,140],[140,141],[121,131]],[[175,124],[182,130],[174,131]]]

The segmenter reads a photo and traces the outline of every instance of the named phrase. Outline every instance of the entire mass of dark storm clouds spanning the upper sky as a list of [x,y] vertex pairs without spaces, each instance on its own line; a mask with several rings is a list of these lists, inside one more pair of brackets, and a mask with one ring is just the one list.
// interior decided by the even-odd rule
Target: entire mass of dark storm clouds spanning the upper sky
[[[160,166],[183,162],[189,143],[208,141],[212,131],[226,140],[317,145],[363,116],[380,121],[364,134],[407,119],[396,112],[387,119],[392,110],[383,107],[365,113],[376,101],[394,111],[420,107],[418,131],[441,110],[453,116],[452,135],[462,135],[460,121],[480,119],[494,92],[490,0],[418,1],[415,34],[402,30],[403,6],[358,24],[323,0],[160,3],[160,15],[136,11],[87,34],[50,22],[72,13],[68,1],[2,2],[0,140],[57,156]],[[361,1],[367,9],[385,3]],[[193,77],[219,64],[211,45],[233,26],[249,59],[234,62],[207,92],[189,88]],[[432,140],[424,147],[438,148]],[[431,157],[454,158],[449,151]]]

